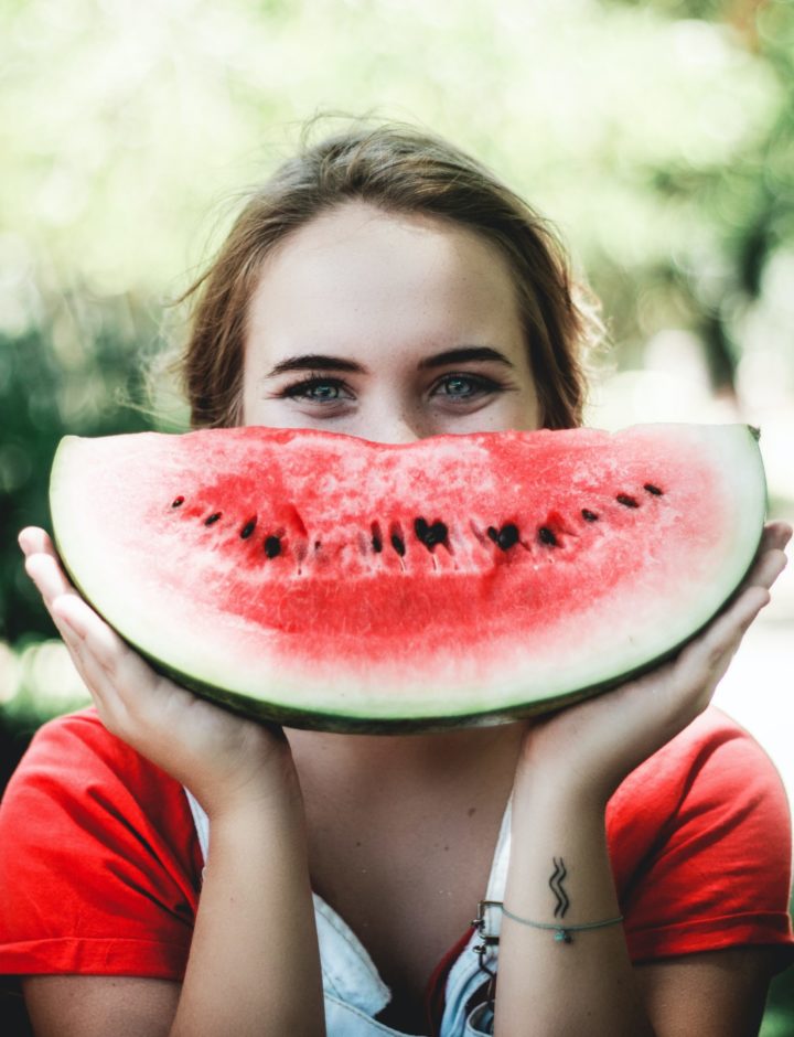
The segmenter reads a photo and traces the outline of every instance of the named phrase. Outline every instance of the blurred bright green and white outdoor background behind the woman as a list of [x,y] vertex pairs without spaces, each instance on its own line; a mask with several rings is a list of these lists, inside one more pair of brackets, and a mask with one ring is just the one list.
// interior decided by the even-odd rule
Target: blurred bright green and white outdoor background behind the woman
[[[184,427],[164,376],[146,392],[171,302],[325,111],[490,163],[603,302],[589,421],[757,425],[771,514],[794,517],[790,0],[0,0],[3,780],[84,701],[15,546],[47,524],[55,445]],[[794,573],[718,692],[790,792],[793,664]],[[764,1037],[794,1034],[793,987]]]

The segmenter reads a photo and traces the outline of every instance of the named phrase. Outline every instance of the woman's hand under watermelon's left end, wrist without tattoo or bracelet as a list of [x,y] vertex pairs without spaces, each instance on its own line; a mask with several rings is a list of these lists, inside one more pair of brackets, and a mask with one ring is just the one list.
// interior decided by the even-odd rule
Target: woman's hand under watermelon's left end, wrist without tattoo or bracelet
[[19,543],[109,731],[189,788],[211,817],[298,794],[280,728],[238,717],[155,673],[75,590],[44,530],[23,530]]

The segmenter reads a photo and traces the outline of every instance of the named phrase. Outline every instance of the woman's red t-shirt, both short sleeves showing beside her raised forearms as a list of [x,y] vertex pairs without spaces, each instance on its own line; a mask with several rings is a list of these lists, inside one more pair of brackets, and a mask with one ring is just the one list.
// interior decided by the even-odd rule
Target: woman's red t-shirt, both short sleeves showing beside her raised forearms
[[[732,720],[707,710],[629,776],[607,821],[634,961],[777,944],[783,963],[788,805]],[[0,806],[0,973],[180,980],[202,866],[178,782],[93,709],[51,721]]]

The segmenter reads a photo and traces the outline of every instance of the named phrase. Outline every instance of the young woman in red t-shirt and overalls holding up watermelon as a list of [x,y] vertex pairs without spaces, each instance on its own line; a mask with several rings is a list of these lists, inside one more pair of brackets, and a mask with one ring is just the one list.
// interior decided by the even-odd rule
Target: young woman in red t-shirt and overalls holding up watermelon
[[[408,442],[581,419],[586,320],[554,239],[404,127],[304,148],[194,292],[196,427]],[[367,737],[282,733],[158,676],[24,531],[95,702],[40,731],[0,819],[0,967],[36,1034],[757,1034],[792,945],[788,812],[708,706],[790,535],[768,526],[730,607],[640,680],[545,719]]]

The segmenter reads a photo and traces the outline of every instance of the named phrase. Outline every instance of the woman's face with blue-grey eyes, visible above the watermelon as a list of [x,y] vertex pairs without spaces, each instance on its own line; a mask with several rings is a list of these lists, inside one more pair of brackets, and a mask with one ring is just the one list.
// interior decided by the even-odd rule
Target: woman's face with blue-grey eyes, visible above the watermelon
[[362,202],[307,224],[268,257],[251,299],[243,421],[378,442],[537,428],[501,253]]

